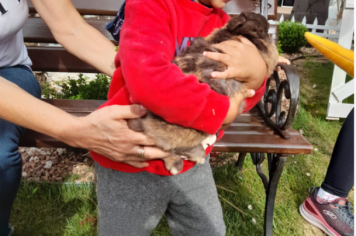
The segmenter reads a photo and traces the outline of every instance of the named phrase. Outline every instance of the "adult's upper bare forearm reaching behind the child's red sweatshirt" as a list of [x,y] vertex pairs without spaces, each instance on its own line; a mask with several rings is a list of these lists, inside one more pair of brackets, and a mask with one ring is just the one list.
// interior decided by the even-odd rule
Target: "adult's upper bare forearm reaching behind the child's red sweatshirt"
[[87,24],[70,0],[31,1],[58,43],[68,52],[112,77],[116,55],[114,44]]

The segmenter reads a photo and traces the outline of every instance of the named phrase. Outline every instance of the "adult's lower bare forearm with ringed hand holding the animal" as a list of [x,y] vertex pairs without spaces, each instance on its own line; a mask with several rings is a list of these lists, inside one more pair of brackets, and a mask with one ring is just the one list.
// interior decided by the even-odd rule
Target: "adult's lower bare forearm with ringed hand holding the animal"
[[[0,77],[0,118],[139,168],[147,166],[142,161],[168,156],[152,147],[154,142],[145,135],[128,128],[125,119],[144,113],[137,105],[110,106],[75,117]],[[145,159],[137,157],[139,145],[145,146]]]

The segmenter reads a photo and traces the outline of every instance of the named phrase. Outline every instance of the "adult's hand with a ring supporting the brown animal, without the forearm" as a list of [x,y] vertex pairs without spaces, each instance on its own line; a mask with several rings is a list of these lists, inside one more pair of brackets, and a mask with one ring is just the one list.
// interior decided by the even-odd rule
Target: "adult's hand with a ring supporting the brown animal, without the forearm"
[[[143,133],[129,129],[125,119],[139,118],[144,114],[145,110],[139,105],[104,107],[86,117],[74,117],[76,123],[62,133],[62,141],[113,161],[143,168],[148,166],[144,161],[169,156],[169,153],[154,147],[154,141]],[[144,148],[143,158],[137,156],[140,146]]]

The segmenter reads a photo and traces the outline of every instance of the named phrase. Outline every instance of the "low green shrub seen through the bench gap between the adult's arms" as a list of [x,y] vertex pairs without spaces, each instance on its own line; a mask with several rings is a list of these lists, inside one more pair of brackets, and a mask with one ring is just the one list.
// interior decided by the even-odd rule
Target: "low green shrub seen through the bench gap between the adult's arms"
[[97,74],[95,80],[88,82],[83,74],[79,74],[77,80],[68,77],[67,81],[57,84],[62,86],[61,93],[56,93],[54,89],[48,89],[48,85],[46,85],[42,87],[42,94],[46,98],[106,100],[110,79],[104,74]]

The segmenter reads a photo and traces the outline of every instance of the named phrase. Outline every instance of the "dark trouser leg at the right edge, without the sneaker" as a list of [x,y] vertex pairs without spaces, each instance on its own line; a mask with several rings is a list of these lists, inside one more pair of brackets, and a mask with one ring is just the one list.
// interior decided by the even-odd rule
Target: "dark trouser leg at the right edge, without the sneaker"
[[[354,186],[354,109],[346,118],[336,140],[328,171],[321,188],[346,198]],[[334,200],[330,199],[330,200]]]

